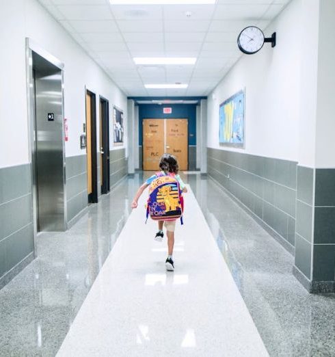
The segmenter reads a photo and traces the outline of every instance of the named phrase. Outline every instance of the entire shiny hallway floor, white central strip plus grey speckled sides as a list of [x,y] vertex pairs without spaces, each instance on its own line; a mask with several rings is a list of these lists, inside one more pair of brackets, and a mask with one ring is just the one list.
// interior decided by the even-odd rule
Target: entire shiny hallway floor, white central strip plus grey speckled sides
[[[293,257],[210,178],[182,174],[176,269],[154,241],[149,173],[126,178],[0,291],[3,356],[331,356],[332,294],[311,295]],[[62,345],[62,347],[61,347]],[[60,348],[60,349],[59,349]]]

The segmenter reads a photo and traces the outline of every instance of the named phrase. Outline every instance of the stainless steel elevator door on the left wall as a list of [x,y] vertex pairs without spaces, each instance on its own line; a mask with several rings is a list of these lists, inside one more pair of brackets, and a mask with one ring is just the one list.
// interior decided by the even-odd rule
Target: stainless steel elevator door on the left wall
[[33,55],[38,231],[65,230],[62,71]]

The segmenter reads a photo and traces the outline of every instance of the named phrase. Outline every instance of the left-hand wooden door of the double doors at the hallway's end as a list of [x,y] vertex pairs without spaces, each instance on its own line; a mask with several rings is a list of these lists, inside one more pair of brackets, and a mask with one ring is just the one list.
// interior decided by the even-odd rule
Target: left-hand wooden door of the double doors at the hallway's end
[[164,153],[164,120],[143,120],[143,169],[159,170],[159,159]]

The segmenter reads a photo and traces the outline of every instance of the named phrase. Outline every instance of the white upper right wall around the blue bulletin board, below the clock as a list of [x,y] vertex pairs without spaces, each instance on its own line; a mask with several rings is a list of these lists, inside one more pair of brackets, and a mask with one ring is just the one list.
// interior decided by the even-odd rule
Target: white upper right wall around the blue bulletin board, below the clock
[[219,104],[245,88],[243,153],[298,161],[302,2],[293,0],[265,30],[276,31],[274,49],[265,44],[255,55],[242,55],[208,99],[208,146],[219,146]]

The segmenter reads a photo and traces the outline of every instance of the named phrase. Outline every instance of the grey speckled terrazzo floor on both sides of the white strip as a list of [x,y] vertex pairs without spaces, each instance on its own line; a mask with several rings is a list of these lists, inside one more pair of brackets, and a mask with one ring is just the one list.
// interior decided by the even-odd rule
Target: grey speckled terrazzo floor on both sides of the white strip
[[[183,177],[269,355],[335,356],[335,294],[307,293],[292,274],[293,256],[216,183]],[[67,232],[38,236],[38,258],[0,290],[0,356],[57,354],[143,179],[139,173],[122,181]]]

